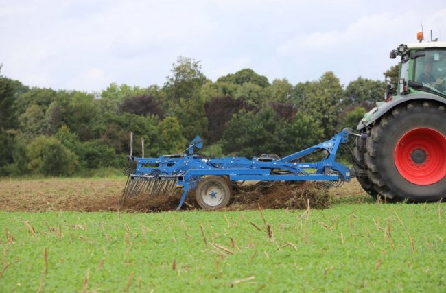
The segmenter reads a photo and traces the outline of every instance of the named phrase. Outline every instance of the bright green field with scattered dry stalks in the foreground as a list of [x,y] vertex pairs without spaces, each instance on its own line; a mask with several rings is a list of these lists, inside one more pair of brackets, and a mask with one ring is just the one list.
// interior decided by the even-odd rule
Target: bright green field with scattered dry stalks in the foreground
[[357,197],[322,211],[0,211],[0,291],[445,292],[445,204]]

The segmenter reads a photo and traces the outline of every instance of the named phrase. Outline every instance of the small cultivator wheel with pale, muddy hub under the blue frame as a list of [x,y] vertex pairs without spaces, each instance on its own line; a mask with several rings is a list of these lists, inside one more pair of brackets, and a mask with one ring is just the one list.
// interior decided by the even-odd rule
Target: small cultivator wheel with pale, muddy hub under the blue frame
[[215,210],[226,207],[231,200],[229,181],[219,176],[205,177],[198,182],[196,199],[204,210]]

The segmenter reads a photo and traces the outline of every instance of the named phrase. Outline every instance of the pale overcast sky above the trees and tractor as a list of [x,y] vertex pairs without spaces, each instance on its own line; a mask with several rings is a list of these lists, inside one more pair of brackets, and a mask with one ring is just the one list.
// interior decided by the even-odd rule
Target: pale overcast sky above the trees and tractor
[[400,43],[446,40],[445,0],[0,0],[1,75],[53,89],[162,86],[178,56],[215,81],[383,80]]

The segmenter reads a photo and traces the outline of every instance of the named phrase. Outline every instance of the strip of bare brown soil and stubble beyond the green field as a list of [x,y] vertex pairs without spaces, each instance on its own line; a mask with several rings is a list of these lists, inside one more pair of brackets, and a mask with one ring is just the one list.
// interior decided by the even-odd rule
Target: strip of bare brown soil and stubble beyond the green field
[[[0,180],[0,210],[3,211],[172,211],[178,207],[179,194],[156,198],[119,199],[126,184],[116,179]],[[346,185],[348,185],[346,187]],[[255,185],[233,187],[233,200],[226,210],[241,209],[326,209],[332,199],[360,194],[357,181],[340,189],[324,191],[314,183],[276,183],[272,187]],[[333,192],[334,191],[334,192]],[[364,193],[364,191],[362,191]],[[199,209],[193,194],[188,194],[182,210]]]

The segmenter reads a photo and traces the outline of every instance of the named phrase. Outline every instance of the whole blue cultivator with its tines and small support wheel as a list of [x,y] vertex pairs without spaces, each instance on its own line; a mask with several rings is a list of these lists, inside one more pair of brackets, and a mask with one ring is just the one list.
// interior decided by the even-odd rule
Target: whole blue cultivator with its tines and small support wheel
[[[347,143],[351,130],[344,129],[329,141],[290,154],[283,158],[263,154],[253,159],[224,157],[209,159],[194,154],[202,148],[202,140],[196,137],[189,144],[187,154],[170,154],[159,158],[136,158],[136,169],[126,169],[126,187],[120,204],[128,197],[162,196],[175,189],[183,189],[178,208],[183,205],[187,193],[195,190],[202,209],[226,207],[231,197],[233,182],[259,181],[264,185],[277,181],[317,181],[322,188],[338,187],[351,179],[351,171],[336,162],[336,152]],[[304,162],[305,156],[324,152],[325,159]]]

